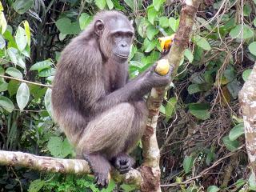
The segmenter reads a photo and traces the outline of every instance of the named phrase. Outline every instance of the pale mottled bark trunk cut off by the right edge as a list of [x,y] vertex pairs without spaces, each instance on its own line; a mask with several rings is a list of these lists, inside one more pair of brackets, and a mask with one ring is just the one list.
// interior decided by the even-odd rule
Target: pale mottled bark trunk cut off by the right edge
[[[239,92],[239,102],[246,135],[246,150],[252,164],[256,162],[256,65]],[[255,169],[255,166],[254,166]],[[255,171],[255,170],[254,170]]]

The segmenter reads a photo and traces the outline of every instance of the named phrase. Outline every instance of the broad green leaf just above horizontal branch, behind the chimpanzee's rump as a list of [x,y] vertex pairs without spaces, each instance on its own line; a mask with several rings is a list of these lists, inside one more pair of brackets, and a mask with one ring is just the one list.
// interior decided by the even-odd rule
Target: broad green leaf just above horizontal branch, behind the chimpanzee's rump
[[69,154],[73,154],[73,148],[70,146],[67,138],[62,142],[59,137],[51,137],[48,144],[48,150],[56,158],[66,158]]

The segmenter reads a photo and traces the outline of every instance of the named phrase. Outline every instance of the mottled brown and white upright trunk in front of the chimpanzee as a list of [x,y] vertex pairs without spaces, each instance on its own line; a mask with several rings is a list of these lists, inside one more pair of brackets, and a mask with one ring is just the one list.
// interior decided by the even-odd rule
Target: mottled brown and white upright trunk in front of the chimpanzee
[[[186,0],[182,5],[179,27],[174,37],[174,45],[171,47],[170,53],[167,56],[171,66],[170,70],[173,70],[172,76],[176,74],[183,53],[190,42],[194,16],[197,13],[200,2],[201,1],[197,0]],[[161,170],[159,167],[160,152],[156,138],[156,127],[164,94],[165,87],[153,88],[147,101],[150,114],[146,126],[146,133],[142,138],[144,162],[140,168],[143,178],[141,190],[145,192],[161,191]]]

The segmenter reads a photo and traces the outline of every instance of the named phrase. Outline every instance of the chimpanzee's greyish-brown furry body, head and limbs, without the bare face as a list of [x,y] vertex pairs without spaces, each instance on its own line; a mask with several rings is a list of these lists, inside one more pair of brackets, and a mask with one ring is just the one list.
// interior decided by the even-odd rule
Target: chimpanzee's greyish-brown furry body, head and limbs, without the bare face
[[[146,127],[148,111],[142,97],[153,86],[169,82],[153,70],[127,82],[127,59],[112,54],[113,21],[134,33],[126,16],[117,11],[95,15],[62,51],[52,92],[54,119],[78,155],[90,162],[98,186],[107,186],[110,162],[121,172],[130,169],[133,160],[127,153]],[[98,25],[102,22],[104,30]]]

